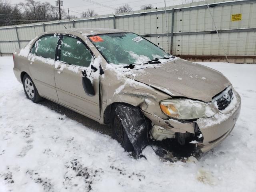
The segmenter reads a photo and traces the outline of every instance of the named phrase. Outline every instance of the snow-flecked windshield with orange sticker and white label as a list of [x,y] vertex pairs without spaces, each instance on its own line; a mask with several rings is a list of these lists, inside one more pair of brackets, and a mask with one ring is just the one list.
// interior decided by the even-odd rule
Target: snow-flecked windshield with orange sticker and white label
[[134,33],[102,34],[89,38],[108,63],[143,64],[154,58],[170,57],[170,54]]

